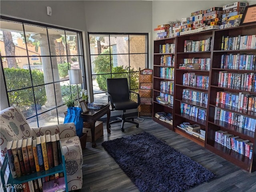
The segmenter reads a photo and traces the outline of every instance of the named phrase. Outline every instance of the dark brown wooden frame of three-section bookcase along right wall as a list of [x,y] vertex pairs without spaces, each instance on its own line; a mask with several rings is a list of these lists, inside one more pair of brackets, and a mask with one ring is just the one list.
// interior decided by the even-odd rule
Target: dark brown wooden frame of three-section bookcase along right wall
[[[237,117],[238,115],[242,115],[246,118],[256,119],[256,112],[255,111],[248,111],[247,107],[245,109],[238,109],[236,107],[232,107],[229,105],[224,105],[222,103],[216,104],[216,97],[217,92],[227,92],[230,94],[239,94],[240,92],[248,92],[248,94],[255,94],[255,89],[250,89],[250,86],[244,86],[244,87],[238,87],[235,85],[228,85],[227,83],[223,83],[223,85],[220,85],[219,83],[219,73],[220,71],[227,71],[226,75],[234,75],[234,77],[240,77],[244,73],[250,73],[255,74],[256,70],[252,66],[247,66],[247,68],[242,68],[244,66],[239,66],[238,63],[235,63],[235,65],[227,65],[227,63],[223,63],[223,58],[237,58],[237,55],[256,55],[256,49],[249,49],[248,47],[244,48],[238,48],[236,46],[235,48],[235,42],[233,45],[230,45],[230,48],[227,48],[228,50],[223,50],[222,48],[222,36],[229,38],[234,37],[240,37],[240,36],[250,36],[250,35],[256,35],[256,24],[248,24],[244,26],[234,27],[234,28],[228,28],[228,29],[222,29],[222,30],[209,30],[204,32],[198,32],[195,34],[188,34],[183,36],[177,36],[175,38],[166,38],[162,40],[155,40],[154,41],[154,81],[153,81],[153,120],[160,123],[161,125],[164,125],[168,129],[175,131],[176,133],[194,141],[195,143],[200,144],[201,146],[204,146],[208,150],[218,154],[222,158],[225,158],[226,160],[236,164],[237,166],[240,166],[244,170],[247,170],[248,172],[253,172],[256,170],[256,134],[255,131],[252,131],[248,128],[242,128],[240,125],[234,125],[230,121],[230,123],[227,123],[224,121],[220,121],[216,119],[216,112],[217,109],[224,110],[228,114],[234,115],[233,117]],[[210,42],[210,48],[206,50],[202,50],[200,48],[194,48],[194,46],[198,45],[194,43],[193,48],[194,49],[187,49],[187,46],[192,45],[190,42],[196,42],[196,41],[202,41],[207,40],[208,43]],[[173,53],[161,53],[160,52],[160,45],[162,44],[170,44],[174,43],[176,44],[175,52]],[[201,43],[201,42],[200,42]],[[204,42],[205,43],[205,42]],[[224,41],[225,43],[225,41]],[[184,48],[184,44],[186,44],[186,49]],[[224,47],[224,46],[223,46]],[[233,48],[233,49],[232,49]],[[161,105],[160,103],[156,102],[156,97],[160,95],[160,81],[168,80],[160,75],[160,68],[163,67],[161,65],[161,57],[162,55],[166,54],[173,54],[175,57],[174,62],[174,105],[173,107],[168,107],[168,105]],[[228,55],[228,56],[227,56]],[[249,56],[248,56],[249,57]],[[251,56],[250,56],[251,57]],[[250,58],[249,57],[249,58]],[[204,69],[202,69],[203,65],[200,65],[200,69],[187,69],[187,68],[179,68],[180,65],[186,61],[191,61],[191,59],[210,59],[207,60],[206,66],[204,66]],[[186,60],[188,59],[188,60]],[[194,61],[194,60],[193,60]],[[230,60],[231,61],[231,60]],[[255,62],[255,61],[254,61]],[[225,66],[225,67],[224,67]],[[167,67],[167,66],[164,66]],[[250,68],[251,67],[251,68]],[[190,74],[189,74],[190,73]],[[232,73],[232,74],[228,74]],[[184,77],[185,74],[185,77]],[[202,76],[200,77],[204,78],[204,83],[199,84],[193,84],[188,81],[186,77],[196,75]],[[249,78],[250,78],[249,75]],[[208,76],[208,77],[207,77]],[[252,75],[251,75],[252,76]],[[196,77],[196,78],[197,78]],[[185,78],[185,79],[184,79]],[[194,77],[192,77],[194,78]],[[208,78],[208,79],[207,79]],[[247,76],[248,78],[248,76]],[[252,77],[252,83],[254,81]],[[239,79],[239,78],[237,78]],[[206,82],[205,82],[206,81]],[[196,81],[198,82],[198,81]],[[235,82],[235,81],[232,81]],[[203,85],[203,86],[202,86]],[[206,86],[207,85],[207,86]],[[252,88],[252,87],[251,87]],[[196,92],[196,94],[208,94],[207,103],[198,102],[196,100],[192,100],[191,98],[186,97],[186,92],[184,90]],[[190,93],[190,92],[189,92]],[[252,96],[253,97],[253,96]],[[182,107],[190,105],[190,107],[197,107],[200,108],[200,110],[203,110],[206,112],[206,118],[202,119],[202,117],[198,118],[195,117],[192,113],[187,114],[184,113],[184,110],[181,109],[181,103]],[[168,112],[173,114],[173,126],[170,126],[164,122],[160,122],[159,119],[154,117],[154,114],[156,112]],[[183,113],[182,113],[183,112]],[[199,124],[201,126],[201,129],[206,131],[206,138],[205,141],[202,139],[199,139],[197,137],[194,137],[194,135],[188,134],[183,129],[178,128],[177,126],[183,122],[189,122],[190,124]],[[234,121],[233,121],[234,122]],[[215,141],[215,134],[216,131],[227,131],[228,133],[238,136],[241,139],[249,140],[251,143],[254,144],[253,150],[252,150],[252,158],[249,158],[243,154],[240,154],[239,152],[236,152],[234,150],[231,150],[227,148],[226,146],[223,146],[220,143],[217,143]]]

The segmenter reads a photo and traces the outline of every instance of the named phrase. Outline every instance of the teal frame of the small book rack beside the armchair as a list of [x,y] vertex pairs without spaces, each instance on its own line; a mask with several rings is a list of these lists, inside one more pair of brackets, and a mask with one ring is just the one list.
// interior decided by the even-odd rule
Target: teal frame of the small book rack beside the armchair
[[[62,147],[61,148],[61,152],[62,152]],[[58,166],[55,166],[53,168],[50,168],[49,170],[44,170],[44,171],[38,171],[38,172],[34,172],[32,174],[29,175],[25,175],[25,176],[21,176],[21,177],[16,177],[16,178],[12,178],[12,172],[10,172],[9,176],[8,176],[8,180],[7,182],[4,180],[4,174],[6,172],[7,166],[9,166],[9,160],[8,160],[8,156],[6,154],[5,158],[4,158],[4,162],[2,164],[1,167],[1,180],[2,180],[2,187],[4,189],[4,192],[7,192],[7,188],[11,185],[12,189],[14,189],[14,186],[22,186],[20,184],[23,184],[25,182],[31,181],[31,180],[35,180],[38,178],[43,178],[46,176],[50,176],[52,174],[56,174],[56,173],[64,173],[64,178],[65,178],[65,185],[66,188],[68,188],[68,181],[67,181],[67,175],[66,175],[66,167],[65,167],[65,157],[63,155],[62,152],[62,164],[59,164]],[[18,188],[16,188],[18,189]]]

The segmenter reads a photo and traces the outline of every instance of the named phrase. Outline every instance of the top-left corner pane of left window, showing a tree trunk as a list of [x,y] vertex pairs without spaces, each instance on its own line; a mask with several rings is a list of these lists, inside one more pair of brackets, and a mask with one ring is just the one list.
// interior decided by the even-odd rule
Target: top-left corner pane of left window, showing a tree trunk
[[[1,56],[27,56],[22,24],[0,21]],[[14,58],[8,58],[8,66],[17,67]]]

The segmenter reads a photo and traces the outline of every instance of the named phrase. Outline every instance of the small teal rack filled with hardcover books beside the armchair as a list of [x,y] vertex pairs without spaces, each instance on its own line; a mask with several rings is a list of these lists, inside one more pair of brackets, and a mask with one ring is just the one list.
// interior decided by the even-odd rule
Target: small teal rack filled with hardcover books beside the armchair
[[[54,183],[59,186],[57,190],[64,191],[68,187],[58,134],[9,141],[6,150],[0,172],[4,192],[9,189],[50,192]],[[6,182],[4,175],[9,168]]]

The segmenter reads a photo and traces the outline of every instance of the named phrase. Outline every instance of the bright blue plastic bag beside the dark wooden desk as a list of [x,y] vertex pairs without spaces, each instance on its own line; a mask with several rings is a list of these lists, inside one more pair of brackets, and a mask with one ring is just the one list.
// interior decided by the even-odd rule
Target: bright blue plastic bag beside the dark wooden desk
[[81,117],[82,109],[80,107],[68,107],[68,113],[64,119],[64,123],[75,123],[76,135],[83,135],[83,118]]

